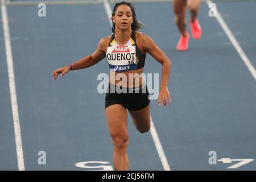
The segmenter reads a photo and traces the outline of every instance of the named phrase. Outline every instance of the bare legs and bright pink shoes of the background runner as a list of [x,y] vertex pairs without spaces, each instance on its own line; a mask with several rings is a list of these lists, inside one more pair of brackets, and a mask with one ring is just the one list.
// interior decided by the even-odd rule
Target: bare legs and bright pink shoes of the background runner
[[177,43],[178,51],[188,49],[189,33],[187,31],[186,9],[190,12],[191,34],[194,39],[200,39],[202,30],[197,19],[200,10],[201,0],[172,0],[172,7],[175,13],[175,22],[180,31],[180,40]]

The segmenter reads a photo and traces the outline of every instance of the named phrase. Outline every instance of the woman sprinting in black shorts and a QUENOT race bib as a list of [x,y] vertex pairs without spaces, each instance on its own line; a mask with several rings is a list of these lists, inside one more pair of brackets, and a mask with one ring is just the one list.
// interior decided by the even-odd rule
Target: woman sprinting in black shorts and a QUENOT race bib
[[[101,39],[97,50],[92,55],[86,56],[71,65],[56,69],[52,72],[52,77],[56,80],[59,74],[60,77],[63,77],[70,70],[89,68],[107,57],[110,67],[108,89],[110,90],[114,86],[114,92],[106,93],[105,115],[114,146],[114,169],[128,170],[127,110],[138,131],[146,133],[150,130],[150,100],[147,89],[144,93],[141,93],[141,90],[146,88],[143,78],[134,77],[131,84],[127,77],[129,73],[131,75],[143,73],[146,53],[150,53],[162,64],[158,104],[160,105],[162,101],[163,105],[166,106],[167,102],[171,101],[167,85],[171,71],[171,61],[149,36],[137,31],[141,28],[141,24],[136,19],[135,8],[131,3],[116,3],[112,13],[112,22],[113,34],[108,38]],[[118,86],[120,80],[115,79],[119,74],[123,74],[127,78],[122,80],[122,86]],[[114,76],[112,77],[112,75]],[[139,85],[135,86],[134,82],[139,82]],[[126,93],[117,93],[117,88],[125,88],[129,92],[126,90]],[[137,92],[139,90],[140,93],[130,93],[130,89],[137,89]]]

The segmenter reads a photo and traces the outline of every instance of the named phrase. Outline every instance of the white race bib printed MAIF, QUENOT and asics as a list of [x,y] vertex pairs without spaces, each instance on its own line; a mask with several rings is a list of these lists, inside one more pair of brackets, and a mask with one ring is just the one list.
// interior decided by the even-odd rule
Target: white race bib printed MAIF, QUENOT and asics
[[112,71],[123,72],[137,69],[135,46],[108,47],[106,57]]

